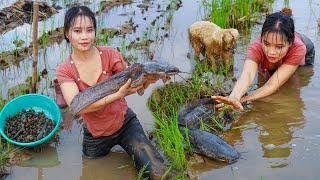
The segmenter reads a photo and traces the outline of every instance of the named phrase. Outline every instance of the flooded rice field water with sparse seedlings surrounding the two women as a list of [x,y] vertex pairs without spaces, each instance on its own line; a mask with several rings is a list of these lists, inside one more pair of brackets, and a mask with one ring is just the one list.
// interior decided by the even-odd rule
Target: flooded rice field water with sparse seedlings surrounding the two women
[[[14,0],[0,2],[0,9],[10,6]],[[63,17],[71,4],[87,4],[97,12],[98,26],[114,28],[114,32],[126,32],[125,36],[115,33],[112,39],[103,39],[125,54],[132,62],[160,60],[169,62],[181,71],[191,72],[196,63],[189,43],[187,28],[202,20],[206,10],[200,0],[178,1],[137,0],[122,1],[122,4],[102,5],[95,1],[53,1],[58,12],[39,22],[39,36],[63,26]],[[123,4],[125,3],[125,5]],[[170,3],[176,8],[165,11]],[[189,168],[193,178],[198,179],[319,179],[320,159],[320,1],[319,0],[276,0],[273,11],[285,5],[293,11],[296,31],[307,35],[316,48],[313,67],[302,67],[275,94],[251,102],[247,112],[233,124],[242,128],[228,130],[223,138],[240,153],[240,159],[227,164],[205,159]],[[261,20],[263,21],[263,20]],[[235,77],[239,77],[246,49],[256,37],[262,25],[241,33],[235,52]],[[24,23],[1,32],[0,53],[30,46],[31,25]],[[99,31],[98,31],[99,32]],[[55,69],[71,52],[63,41],[48,41],[39,49],[38,93],[55,97],[52,80]],[[16,40],[16,41],[15,41]],[[21,43],[13,43],[20,41]],[[139,46],[139,48],[131,48]],[[140,44],[143,44],[140,46]],[[148,48],[146,48],[148,47]],[[191,55],[190,55],[191,54]],[[30,54],[14,63],[8,63],[1,55],[0,91],[3,99],[10,99],[24,90],[24,84],[32,74]],[[184,76],[188,76],[184,74]],[[181,81],[179,77],[175,80]],[[259,82],[259,78],[256,79]],[[257,83],[256,83],[257,84]],[[129,107],[138,115],[146,132],[151,131],[154,120],[147,108],[152,90],[162,87],[160,81],[151,85],[143,96],[126,97]],[[253,88],[257,88],[257,85]],[[5,101],[3,100],[2,103]],[[130,157],[116,146],[104,158],[90,160],[82,155],[82,128],[74,123],[71,132],[60,131],[58,143],[43,147],[41,153],[24,150],[21,163],[9,168],[6,179],[135,179],[137,171]]]

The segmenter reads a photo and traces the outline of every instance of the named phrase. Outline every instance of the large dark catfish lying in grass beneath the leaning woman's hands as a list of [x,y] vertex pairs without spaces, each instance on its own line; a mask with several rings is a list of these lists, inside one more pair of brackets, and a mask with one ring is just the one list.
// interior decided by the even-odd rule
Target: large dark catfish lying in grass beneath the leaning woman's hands
[[234,147],[219,136],[200,130],[200,121],[205,123],[214,116],[214,105],[211,98],[203,98],[188,102],[179,108],[178,123],[181,133],[186,136],[185,127],[188,128],[188,138],[195,153],[210,159],[232,163],[239,158]]

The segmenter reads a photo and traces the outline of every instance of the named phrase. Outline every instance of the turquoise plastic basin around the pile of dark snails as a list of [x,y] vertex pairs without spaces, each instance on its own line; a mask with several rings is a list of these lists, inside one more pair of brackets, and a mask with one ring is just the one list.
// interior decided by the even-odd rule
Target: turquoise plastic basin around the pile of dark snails
[[[38,141],[22,143],[9,139],[4,129],[6,125],[6,118],[8,116],[14,116],[16,113],[21,112],[23,109],[29,110],[30,108],[32,108],[36,112],[43,111],[46,117],[55,121],[56,126],[47,136],[45,136],[42,139],[39,139]],[[12,99],[1,110],[0,133],[2,137],[4,137],[7,141],[9,141],[12,144],[16,144],[18,146],[23,147],[35,147],[48,141],[55,134],[55,132],[59,128],[60,121],[60,109],[51,98],[41,94],[25,94]]]

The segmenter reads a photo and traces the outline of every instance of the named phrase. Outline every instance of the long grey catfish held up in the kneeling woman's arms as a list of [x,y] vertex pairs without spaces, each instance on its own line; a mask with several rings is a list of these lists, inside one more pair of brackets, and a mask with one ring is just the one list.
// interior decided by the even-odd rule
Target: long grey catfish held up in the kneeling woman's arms
[[[179,73],[180,70],[165,62],[144,62],[135,63],[122,72],[119,72],[108,79],[85,89],[78,93],[71,101],[69,111],[76,115],[86,106],[98,101],[99,99],[117,92],[131,78],[130,87],[135,88],[145,82],[143,77],[162,79],[164,82],[170,76]],[[143,94],[143,92],[138,92]]]

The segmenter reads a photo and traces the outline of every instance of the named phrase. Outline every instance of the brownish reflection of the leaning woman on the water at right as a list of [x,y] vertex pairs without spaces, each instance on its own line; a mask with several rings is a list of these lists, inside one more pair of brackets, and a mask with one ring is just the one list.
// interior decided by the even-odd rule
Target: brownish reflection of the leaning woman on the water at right
[[[295,146],[291,140],[296,138],[294,133],[304,128],[305,124],[305,104],[300,97],[301,89],[309,84],[312,76],[312,66],[299,67],[278,92],[253,102],[253,108],[247,114],[258,125],[263,157],[279,158],[272,160],[270,167],[288,165],[284,160],[290,156],[292,146]],[[258,79],[258,84],[265,81],[263,77]]]

